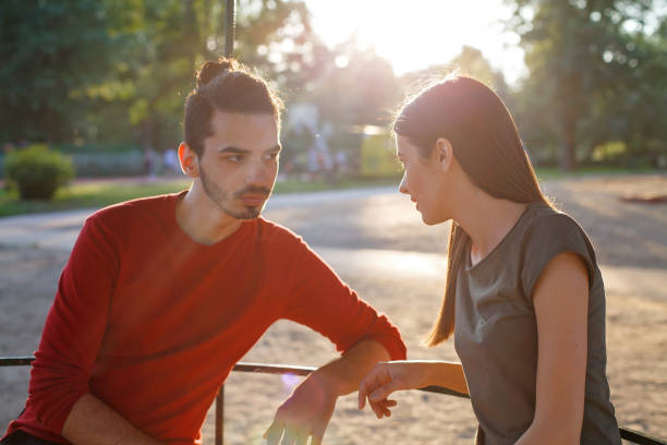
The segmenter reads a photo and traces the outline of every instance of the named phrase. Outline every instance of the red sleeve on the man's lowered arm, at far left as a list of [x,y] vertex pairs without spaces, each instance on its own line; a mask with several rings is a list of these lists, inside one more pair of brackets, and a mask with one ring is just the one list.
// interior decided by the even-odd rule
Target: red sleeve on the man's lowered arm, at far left
[[88,393],[117,273],[108,234],[88,218],[60,276],[31,374],[27,406],[56,434]]

